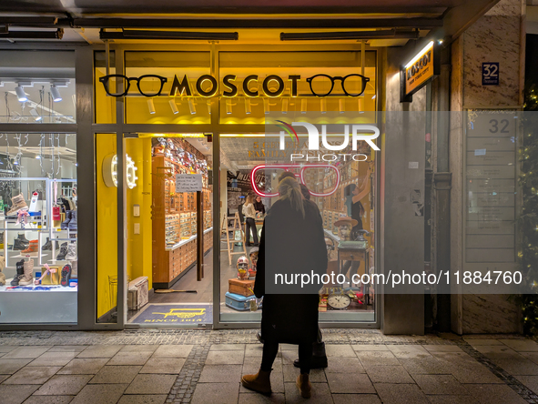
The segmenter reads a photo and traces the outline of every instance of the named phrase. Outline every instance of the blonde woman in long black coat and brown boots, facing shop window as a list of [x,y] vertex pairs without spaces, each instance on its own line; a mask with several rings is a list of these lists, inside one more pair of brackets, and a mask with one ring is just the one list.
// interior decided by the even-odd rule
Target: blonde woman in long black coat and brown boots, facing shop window
[[[320,284],[311,284],[308,288],[294,285],[295,289],[286,285],[287,294],[267,294],[266,278],[268,282],[273,281],[275,277],[272,274],[276,272],[291,275],[324,274],[327,271],[327,253],[320,214],[314,204],[302,197],[299,183],[291,177],[282,179],[279,195],[261,231],[258,273],[254,285],[256,297],[264,296],[261,366],[257,374],[243,376],[241,382],[247,389],[270,394],[270,372],[279,351],[279,343],[298,344],[300,375],[297,387],[300,395],[308,399],[312,389],[309,380],[312,343],[318,338]],[[269,274],[267,277],[266,273]],[[270,285],[272,290],[275,287]]]

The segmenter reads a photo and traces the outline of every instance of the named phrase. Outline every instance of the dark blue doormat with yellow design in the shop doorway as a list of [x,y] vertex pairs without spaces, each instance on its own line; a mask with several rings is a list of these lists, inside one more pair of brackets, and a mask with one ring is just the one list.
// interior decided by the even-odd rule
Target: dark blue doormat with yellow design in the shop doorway
[[210,303],[148,303],[129,322],[136,324],[213,324],[213,305]]

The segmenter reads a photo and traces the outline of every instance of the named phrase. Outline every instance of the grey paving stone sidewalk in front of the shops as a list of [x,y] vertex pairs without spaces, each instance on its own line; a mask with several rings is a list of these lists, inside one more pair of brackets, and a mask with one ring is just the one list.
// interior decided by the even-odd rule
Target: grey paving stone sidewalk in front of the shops
[[271,397],[255,330],[0,332],[0,403],[538,403],[538,344],[521,336],[383,336],[325,329],[329,367],[301,399],[297,347],[282,345]]

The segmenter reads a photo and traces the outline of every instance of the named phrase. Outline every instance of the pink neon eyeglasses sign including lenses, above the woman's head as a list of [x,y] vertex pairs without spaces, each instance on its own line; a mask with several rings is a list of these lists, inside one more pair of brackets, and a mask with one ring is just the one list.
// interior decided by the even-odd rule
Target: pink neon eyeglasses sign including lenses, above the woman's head
[[260,165],[250,171],[250,184],[260,197],[279,196],[279,177],[290,172],[295,178],[309,188],[312,197],[329,197],[340,184],[340,171],[328,164],[272,164]]

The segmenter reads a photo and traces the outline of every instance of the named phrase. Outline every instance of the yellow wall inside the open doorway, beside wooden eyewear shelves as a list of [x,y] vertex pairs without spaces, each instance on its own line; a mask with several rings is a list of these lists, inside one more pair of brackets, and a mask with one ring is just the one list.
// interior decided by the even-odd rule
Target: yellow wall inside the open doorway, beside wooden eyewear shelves
[[[127,277],[147,277],[151,288],[151,138],[127,139],[126,150],[138,168],[137,187],[127,189]],[[134,217],[134,205],[140,206],[140,217]],[[140,234],[134,232],[135,223]]]

